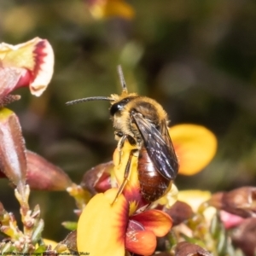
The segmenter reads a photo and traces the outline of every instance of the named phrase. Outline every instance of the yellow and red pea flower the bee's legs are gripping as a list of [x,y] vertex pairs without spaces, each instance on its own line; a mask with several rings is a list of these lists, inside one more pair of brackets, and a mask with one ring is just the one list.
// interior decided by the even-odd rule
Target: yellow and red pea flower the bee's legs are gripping
[[[114,172],[118,183],[123,182],[130,144],[125,143],[119,164],[119,151],[113,154]],[[84,208],[78,224],[78,250],[90,255],[151,255],[156,236],[165,236],[172,227],[172,219],[165,212],[143,209],[147,205],[140,194],[137,161],[131,162],[131,173],[122,193],[108,189],[95,195]],[[118,195],[118,196],[117,196]],[[144,210],[144,211],[143,211]]]

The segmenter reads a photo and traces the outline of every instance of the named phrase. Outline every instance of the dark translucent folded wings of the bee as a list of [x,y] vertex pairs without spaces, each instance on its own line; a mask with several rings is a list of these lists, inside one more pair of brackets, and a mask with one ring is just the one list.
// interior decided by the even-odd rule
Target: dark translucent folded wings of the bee
[[163,123],[161,131],[158,131],[155,125],[144,119],[140,113],[133,113],[132,117],[156,169],[166,179],[174,179],[177,176],[178,163],[166,123]]

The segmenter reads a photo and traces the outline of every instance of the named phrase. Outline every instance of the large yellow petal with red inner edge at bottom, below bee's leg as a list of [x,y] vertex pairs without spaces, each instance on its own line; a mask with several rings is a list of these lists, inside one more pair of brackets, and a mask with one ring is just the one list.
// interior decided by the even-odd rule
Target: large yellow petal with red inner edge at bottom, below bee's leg
[[128,201],[118,189],[95,195],[82,212],[78,223],[77,245],[80,253],[90,256],[125,255],[125,229],[128,223]]

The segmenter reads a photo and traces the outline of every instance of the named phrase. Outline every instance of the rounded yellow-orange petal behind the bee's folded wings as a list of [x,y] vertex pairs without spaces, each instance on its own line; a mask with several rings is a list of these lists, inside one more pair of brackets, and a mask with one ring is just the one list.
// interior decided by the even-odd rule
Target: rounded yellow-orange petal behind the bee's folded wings
[[217,150],[212,131],[201,125],[175,125],[169,129],[179,160],[179,174],[194,175],[209,164]]

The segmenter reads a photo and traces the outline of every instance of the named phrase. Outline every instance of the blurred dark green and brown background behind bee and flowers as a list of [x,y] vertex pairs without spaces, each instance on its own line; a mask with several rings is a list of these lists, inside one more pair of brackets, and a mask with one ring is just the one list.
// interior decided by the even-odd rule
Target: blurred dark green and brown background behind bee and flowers
[[[116,142],[108,102],[65,102],[120,93],[121,64],[128,89],[153,97],[171,125],[205,125],[218,137],[218,153],[179,189],[228,190],[256,183],[256,2],[249,0],[129,1],[132,20],[95,20],[85,1],[0,2],[0,41],[47,38],[55,73],[40,98],[18,90],[9,106],[20,117],[26,147],[61,166],[79,183],[92,166],[111,160]],[[57,182],[57,181],[56,181]],[[19,218],[7,180],[0,201]],[[45,219],[44,236],[60,241],[65,220],[76,220],[65,192],[32,192]]]

